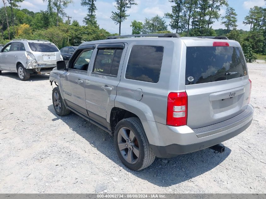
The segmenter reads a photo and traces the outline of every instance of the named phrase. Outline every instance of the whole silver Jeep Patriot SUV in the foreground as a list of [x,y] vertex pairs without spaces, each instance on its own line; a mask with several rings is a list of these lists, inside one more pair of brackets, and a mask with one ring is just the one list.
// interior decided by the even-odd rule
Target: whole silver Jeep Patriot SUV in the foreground
[[[120,38],[125,37],[125,38]],[[111,36],[81,44],[50,73],[55,112],[114,136],[130,169],[218,145],[252,122],[251,80],[237,41],[178,34]]]

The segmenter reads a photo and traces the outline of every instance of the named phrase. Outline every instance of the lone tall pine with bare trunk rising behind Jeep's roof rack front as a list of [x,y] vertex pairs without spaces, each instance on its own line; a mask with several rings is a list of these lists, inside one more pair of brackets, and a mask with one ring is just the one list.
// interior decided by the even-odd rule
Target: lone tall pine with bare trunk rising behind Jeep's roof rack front
[[111,19],[115,24],[119,24],[119,35],[121,34],[121,23],[129,16],[126,14],[126,11],[130,9],[132,5],[137,5],[135,0],[116,0],[115,7],[117,12],[112,11]]

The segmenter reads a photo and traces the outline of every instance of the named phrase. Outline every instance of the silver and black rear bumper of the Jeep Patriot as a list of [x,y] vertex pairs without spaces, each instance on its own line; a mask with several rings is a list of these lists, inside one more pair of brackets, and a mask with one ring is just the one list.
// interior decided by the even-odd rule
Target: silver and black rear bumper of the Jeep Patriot
[[240,134],[251,124],[253,110],[253,106],[248,104],[246,110],[234,118],[194,130],[188,126],[173,127],[142,122],[156,156],[167,158],[199,151]]

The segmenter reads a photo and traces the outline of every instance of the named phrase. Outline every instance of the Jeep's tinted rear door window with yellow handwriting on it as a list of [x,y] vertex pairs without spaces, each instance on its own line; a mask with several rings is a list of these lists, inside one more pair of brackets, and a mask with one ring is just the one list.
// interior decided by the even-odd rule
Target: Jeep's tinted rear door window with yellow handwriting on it
[[122,49],[99,49],[93,72],[117,76]]

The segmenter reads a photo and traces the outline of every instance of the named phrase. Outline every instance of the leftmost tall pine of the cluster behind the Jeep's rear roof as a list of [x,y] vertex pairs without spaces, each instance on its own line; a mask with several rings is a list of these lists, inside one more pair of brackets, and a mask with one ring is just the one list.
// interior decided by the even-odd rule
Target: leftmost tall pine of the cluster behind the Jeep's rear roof
[[169,0],[169,2],[174,3],[172,6],[172,13],[166,13],[164,16],[171,19],[169,25],[178,33],[178,30],[181,29],[180,18],[184,9],[184,0]]

